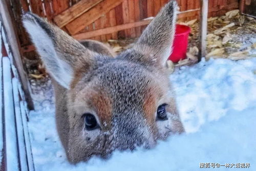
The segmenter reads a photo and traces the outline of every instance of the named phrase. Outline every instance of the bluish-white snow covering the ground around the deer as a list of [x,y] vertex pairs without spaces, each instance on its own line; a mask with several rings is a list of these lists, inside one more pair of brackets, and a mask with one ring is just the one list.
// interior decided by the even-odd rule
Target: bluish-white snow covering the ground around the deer
[[[202,61],[176,69],[170,80],[186,133],[160,141],[151,150],[116,151],[108,160],[94,157],[70,165],[56,133],[53,106],[46,103],[41,110],[38,103],[29,121],[36,171],[256,170],[256,58]],[[200,162],[250,167],[199,168]]]

